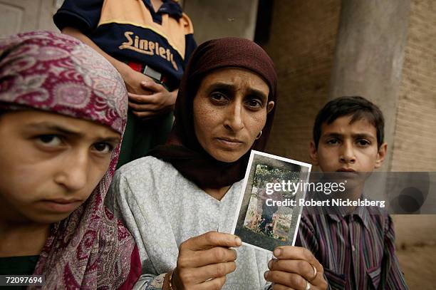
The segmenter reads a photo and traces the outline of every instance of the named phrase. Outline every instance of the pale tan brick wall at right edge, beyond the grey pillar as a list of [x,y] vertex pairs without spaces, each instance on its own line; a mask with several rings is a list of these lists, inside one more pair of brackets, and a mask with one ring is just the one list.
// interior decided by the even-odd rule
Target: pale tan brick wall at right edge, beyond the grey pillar
[[412,0],[393,171],[436,170],[436,3]]

